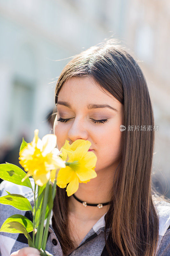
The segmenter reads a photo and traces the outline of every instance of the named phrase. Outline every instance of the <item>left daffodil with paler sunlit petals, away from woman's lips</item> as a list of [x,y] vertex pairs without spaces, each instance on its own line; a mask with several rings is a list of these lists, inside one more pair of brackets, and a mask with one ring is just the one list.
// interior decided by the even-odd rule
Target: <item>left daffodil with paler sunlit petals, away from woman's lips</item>
[[24,167],[27,177],[33,176],[35,184],[43,186],[50,179],[51,171],[65,168],[65,162],[60,156],[60,151],[55,148],[57,138],[54,134],[45,135],[42,140],[38,137],[38,129],[34,131],[31,143],[19,152],[19,164]]

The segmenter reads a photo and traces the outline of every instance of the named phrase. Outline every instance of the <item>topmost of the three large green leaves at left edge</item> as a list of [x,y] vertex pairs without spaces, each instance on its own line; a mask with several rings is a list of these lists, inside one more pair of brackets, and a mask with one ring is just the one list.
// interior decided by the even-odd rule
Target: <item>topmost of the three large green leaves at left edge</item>
[[15,164],[0,164],[0,178],[11,181],[17,185],[26,186],[32,189],[30,179],[27,178],[23,182],[21,180],[26,176],[26,173]]

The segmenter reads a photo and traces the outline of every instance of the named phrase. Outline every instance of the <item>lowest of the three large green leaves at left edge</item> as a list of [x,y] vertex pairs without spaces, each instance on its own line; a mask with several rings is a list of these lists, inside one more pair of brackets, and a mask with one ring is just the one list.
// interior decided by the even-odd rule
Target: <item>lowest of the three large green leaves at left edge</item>
[[[21,225],[19,225],[18,223],[21,224],[25,229],[23,229],[21,227]],[[4,221],[4,223],[1,226],[0,232],[23,233],[26,236],[27,234],[26,234],[25,230],[27,233],[33,231],[32,221],[23,215],[14,214]],[[26,236],[26,237],[28,237],[28,236]]]

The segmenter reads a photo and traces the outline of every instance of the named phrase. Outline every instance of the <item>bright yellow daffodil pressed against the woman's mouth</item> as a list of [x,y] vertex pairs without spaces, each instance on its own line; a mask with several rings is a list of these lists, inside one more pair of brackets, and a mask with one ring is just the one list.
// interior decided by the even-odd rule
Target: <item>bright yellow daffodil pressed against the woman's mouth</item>
[[68,162],[66,162],[66,167],[58,172],[57,185],[60,188],[67,186],[68,196],[78,190],[79,183],[87,183],[90,179],[97,177],[94,171],[97,157],[94,152],[88,151],[90,146],[91,142],[88,140],[76,140],[71,145],[66,140],[61,148],[61,157],[63,160],[68,158]]

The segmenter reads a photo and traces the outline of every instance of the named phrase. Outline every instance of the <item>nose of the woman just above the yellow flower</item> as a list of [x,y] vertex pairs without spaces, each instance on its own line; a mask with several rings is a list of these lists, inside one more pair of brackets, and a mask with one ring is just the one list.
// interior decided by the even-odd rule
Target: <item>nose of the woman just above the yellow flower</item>
[[68,138],[74,142],[75,140],[87,140],[88,132],[85,127],[85,122],[82,119],[75,118],[69,131]]

